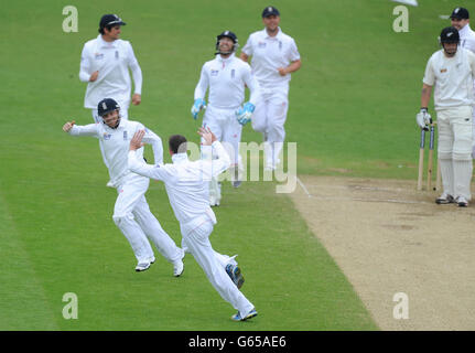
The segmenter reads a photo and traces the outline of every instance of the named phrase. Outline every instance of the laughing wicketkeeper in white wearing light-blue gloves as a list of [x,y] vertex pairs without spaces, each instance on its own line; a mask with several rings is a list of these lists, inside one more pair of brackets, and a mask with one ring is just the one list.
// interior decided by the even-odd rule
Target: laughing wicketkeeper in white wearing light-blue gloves
[[[241,183],[239,171],[239,142],[242,126],[246,125],[260,99],[259,84],[251,73],[249,64],[235,56],[238,39],[235,33],[225,31],[216,38],[216,58],[202,67],[199,82],[194,93],[192,116],[197,118],[201,109],[206,108],[203,126],[209,127],[219,141],[223,141],[231,159],[231,183],[238,188]],[[245,87],[249,87],[249,101],[245,100]],[[209,87],[208,105],[205,96]],[[209,183],[209,204],[219,205],[220,183],[213,179]]]

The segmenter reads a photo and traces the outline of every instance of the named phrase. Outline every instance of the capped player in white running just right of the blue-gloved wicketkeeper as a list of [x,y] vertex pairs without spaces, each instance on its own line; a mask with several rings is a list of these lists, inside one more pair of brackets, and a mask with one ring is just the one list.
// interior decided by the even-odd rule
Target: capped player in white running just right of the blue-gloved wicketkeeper
[[240,58],[247,62],[252,56],[251,67],[262,92],[262,99],[253,113],[252,128],[263,136],[265,169],[274,170],[280,163],[285,139],[291,73],[301,67],[301,58],[295,41],[279,28],[278,9],[267,7],[262,11],[262,22],[266,28],[249,36]]

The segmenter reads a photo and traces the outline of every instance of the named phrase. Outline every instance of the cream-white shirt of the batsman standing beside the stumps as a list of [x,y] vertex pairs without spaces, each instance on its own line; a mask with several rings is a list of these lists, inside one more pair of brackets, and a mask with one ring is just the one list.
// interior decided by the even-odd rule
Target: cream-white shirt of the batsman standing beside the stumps
[[434,107],[442,110],[475,104],[474,77],[474,53],[458,47],[455,56],[446,57],[442,49],[429,58],[422,82],[434,86]]

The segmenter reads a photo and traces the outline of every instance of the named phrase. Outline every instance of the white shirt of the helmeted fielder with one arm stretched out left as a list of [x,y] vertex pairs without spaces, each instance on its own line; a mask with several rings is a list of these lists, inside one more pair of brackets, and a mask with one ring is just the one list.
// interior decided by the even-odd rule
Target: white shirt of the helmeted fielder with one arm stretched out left
[[[152,146],[154,162],[162,163],[162,139],[138,121],[121,119],[116,129],[108,127],[104,122],[89,124],[85,126],[74,125],[69,130],[69,135],[91,136],[102,141],[104,156],[109,165],[110,180],[117,188],[121,184],[125,178],[130,174],[127,153],[129,152],[129,145],[133,133],[139,130],[145,130],[143,142]],[[137,154],[143,160],[143,147],[137,150]]]

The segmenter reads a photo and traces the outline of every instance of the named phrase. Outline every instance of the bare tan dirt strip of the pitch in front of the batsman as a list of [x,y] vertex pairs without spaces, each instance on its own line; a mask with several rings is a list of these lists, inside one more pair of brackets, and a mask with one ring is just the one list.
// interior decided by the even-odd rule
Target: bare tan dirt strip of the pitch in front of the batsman
[[[436,205],[411,181],[300,181],[291,199],[381,330],[475,330],[475,205]],[[395,319],[400,292],[409,319]]]

